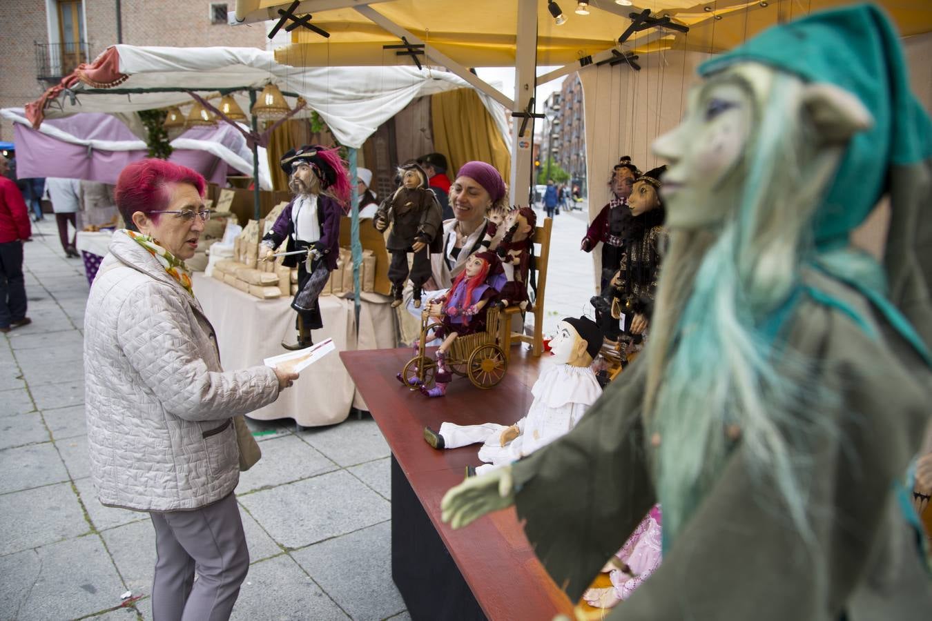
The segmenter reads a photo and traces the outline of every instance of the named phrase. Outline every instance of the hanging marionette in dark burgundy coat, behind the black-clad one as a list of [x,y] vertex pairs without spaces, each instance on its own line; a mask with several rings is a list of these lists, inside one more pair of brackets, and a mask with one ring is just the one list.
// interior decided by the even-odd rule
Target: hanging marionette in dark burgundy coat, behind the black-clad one
[[618,160],[618,164],[615,164],[615,167],[611,170],[609,182],[611,198],[608,204],[598,212],[596,219],[589,224],[589,228],[583,237],[581,248],[585,252],[591,252],[596,248],[596,244],[602,242],[600,291],[609,285],[611,276],[618,269],[618,264],[622,260],[622,253],[624,252],[623,234],[631,215],[630,209],[628,209],[628,196],[631,195],[631,187],[639,176],[640,171],[629,156],[624,155]]

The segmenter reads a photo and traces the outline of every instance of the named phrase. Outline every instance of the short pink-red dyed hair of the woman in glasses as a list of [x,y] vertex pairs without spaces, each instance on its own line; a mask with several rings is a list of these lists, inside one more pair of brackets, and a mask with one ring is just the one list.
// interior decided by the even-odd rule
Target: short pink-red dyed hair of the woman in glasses
[[[169,183],[190,183],[197,188],[200,196],[204,196],[207,182],[197,170],[164,159],[142,159],[119,173],[114,196],[127,228],[136,228],[132,223],[132,214],[136,211],[159,211],[168,207],[166,186]],[[154,222],[158,222],[158,214],[148,215]]]

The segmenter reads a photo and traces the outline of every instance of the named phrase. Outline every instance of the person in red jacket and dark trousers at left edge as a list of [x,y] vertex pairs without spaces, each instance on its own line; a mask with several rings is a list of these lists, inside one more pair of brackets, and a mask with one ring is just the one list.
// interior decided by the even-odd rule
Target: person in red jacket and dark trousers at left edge
[[6,171],[7,158],[0,157],[0,332],[32,323],[26,317],[22,277],[22,244],[32,236],[32,227],[20,188],[2,176]]

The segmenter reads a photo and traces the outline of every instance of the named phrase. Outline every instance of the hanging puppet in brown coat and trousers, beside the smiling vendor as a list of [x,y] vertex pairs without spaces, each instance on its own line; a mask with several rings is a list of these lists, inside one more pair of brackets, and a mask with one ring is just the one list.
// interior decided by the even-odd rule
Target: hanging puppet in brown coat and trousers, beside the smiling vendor
[[[431,252],[443,250],[443,214],[437,197],[427,184],[427,174],[417,164],[404,164],[399,172],[401,186],[379,206],[373,225],[383,232],[391,224],[385,247],[391,252],[389,280],[391,306],[402,304],[404,283],[414,287],[414,307],[420,308],[421,287],[431,277]],[[414,260],[408,268],[408,252]]]

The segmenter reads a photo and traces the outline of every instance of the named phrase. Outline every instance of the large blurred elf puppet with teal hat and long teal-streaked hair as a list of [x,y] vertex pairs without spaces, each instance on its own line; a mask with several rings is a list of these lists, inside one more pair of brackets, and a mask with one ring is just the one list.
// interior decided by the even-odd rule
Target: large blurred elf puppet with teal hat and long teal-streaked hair
[[[651,340],[579,425],[446,494],[515,505],[578,601],[655,503],[664,562],[610,618],[928,619],[907,479],[932,413],[929,118],[876,7],[707,61],[668,163]],[[849,236],[888,196],[883,263]]]

